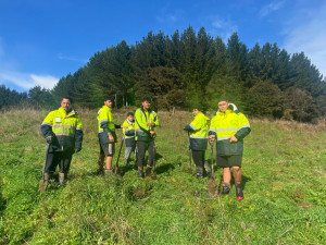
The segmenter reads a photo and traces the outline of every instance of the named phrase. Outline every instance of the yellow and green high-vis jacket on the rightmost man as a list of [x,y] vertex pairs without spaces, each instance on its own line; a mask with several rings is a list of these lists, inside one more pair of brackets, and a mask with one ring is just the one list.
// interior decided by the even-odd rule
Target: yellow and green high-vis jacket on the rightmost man
[[[218,111],[212,119],[209,135],[215,135],[217,138],[216,154],[218,156],[233,156],[242,155],[243,138],[250,131],[250,124],[244,114],[227,109],[225,112]],[[233,135],[238,142],[229,142]]]

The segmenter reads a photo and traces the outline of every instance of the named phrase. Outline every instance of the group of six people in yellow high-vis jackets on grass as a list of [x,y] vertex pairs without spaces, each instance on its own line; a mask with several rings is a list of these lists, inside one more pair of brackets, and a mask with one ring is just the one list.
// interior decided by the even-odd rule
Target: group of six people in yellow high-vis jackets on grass
[[[122,125],[115,124],[112,117],[113,99],[104,99],[103,107],[98,111],[99,130],[99,170],[100,174],[113,174],[112,159],[115,154],[115,128],[123,128],[125,147],[125,166],[128,164],[131,152],[136,151],[138,177],[150,175],[155,157],[154,128],[159,125],[155,111],[151,109],[151,98],[145,97],[141,108],[135,114],[127,113]],[[200,106],[192,106],[193,121],[185,126],[189,136],[189,149],[196,163],[198,179],[204,174],[204,154],[208,142],[216,140],[216,163],[223,168],[223,194],[230,192],[231,172],[235,179],[237,199],[243,199],[241,188],[241,161],[243,138],[250,133],[248,119],[238,111],[228,99],[218,100],[218,111],[212,119],[205,117]],[[62,98],[61,108],[51,111],[41,124],[41,133],[47,142],[47,155],[39,191],[46,191],[52,175],[59,166],[59,184],[65,185],[72,156],[80,151],[83,142],[83,124],[78,113],[71,108],[70,98]],[[145,163],[146,151],[148,161]],[[104,164],[105,160],[105,164]],[[105,168],[104,168],[105,166]],[[146,167],[146,169],[145,169]],[[208,171],[208,175],[210,172]]]

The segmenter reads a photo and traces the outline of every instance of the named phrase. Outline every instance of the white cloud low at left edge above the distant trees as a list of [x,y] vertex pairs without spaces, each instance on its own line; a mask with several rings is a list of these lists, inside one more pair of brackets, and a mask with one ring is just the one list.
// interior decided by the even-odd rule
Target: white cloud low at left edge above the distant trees
[[4,82],[4,85],[13,84],[24,90],[28,90],[35,86],[41,86],[43,88],[51,89],[59,82],[59,78],[51,75],[36,75],[12,71],[0,71],[0,82]]

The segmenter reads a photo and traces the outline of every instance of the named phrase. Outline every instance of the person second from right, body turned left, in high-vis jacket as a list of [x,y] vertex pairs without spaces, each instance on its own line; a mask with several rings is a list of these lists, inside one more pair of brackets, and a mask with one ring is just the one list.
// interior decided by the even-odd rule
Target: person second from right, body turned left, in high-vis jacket
[[205,150],[208,148],[208,132],[210,119],[200,111],[200,106],[192,106],[193,120],[185,126],[189,132],[189,149],[192,151],[192,159],[196,164],[196,176],[203,176],[203,164]]

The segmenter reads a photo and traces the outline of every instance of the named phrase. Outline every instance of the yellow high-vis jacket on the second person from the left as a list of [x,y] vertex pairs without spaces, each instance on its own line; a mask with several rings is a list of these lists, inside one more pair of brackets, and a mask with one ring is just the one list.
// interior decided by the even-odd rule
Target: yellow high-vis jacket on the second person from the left
[[110,143],[108,135],[109,132],[112,134],[114,142],[116,143],[115,128],[118,126],[114,124],[111,111],[112,109],[105,105],[98,111],[100,144]]

